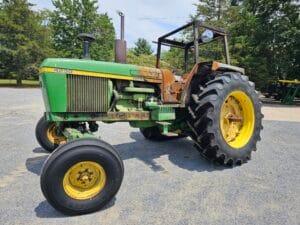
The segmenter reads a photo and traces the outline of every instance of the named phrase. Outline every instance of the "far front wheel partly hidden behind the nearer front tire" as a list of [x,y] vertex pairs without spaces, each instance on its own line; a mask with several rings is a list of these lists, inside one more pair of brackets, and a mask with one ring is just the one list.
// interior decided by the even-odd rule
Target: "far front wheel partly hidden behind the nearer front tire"
[[40,146],[48,152],[53,152],[59,145],[65,144],[67,141],[56,124],[48,122],[44,116],[36,125],[35,136]]

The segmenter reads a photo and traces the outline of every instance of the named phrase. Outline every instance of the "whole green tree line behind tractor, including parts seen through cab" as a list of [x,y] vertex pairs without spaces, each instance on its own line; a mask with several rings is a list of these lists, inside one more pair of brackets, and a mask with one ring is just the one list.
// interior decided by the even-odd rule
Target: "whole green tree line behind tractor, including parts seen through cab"
[[[97,0],[52,3],[53,11],[34,11],[28,0],[0,3],[0,78],[14,78],[21,85],[22,79],[37,79],[44,58],[80,58],[80,33],[96,36],[91,46],[93,59],[114,60],[114,26],[108,14],[97,12]],[[271,79],[300,79],[298,0],[201,0],[196,7],[191,20],[225,28],[232,64],[244,67],[258,86]],[[182,39],[191,32],[182,33]],[[220,46],[203,46],[199,57],[222,60]],[[162,66],[181,71],[182,59],[180,50],[170,48],[162,54]],[[147,40],[140,38],[129,49],[128,63],[155,65]]]

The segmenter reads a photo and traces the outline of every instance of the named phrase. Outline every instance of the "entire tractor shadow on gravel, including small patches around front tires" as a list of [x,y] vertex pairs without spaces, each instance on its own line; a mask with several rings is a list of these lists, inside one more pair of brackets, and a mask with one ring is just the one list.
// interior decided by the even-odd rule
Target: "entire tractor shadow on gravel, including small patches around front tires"
[[[122,159],[136,158],[141,160],[154,172],[168,172],[155,160],[161,156],[168,156],[168,159],[173,164],[190,171],[217,171],[227,169],[227,167],[217,166],[202,158],[199,152],[194,148],[193,142],[187,138],[154,142],[146,140],[140,132],[131,132],[130,137],[134,142],[114,146],[120,153]],[[35,148],[32,151],[34,153],[48,153],[43,148]],[[48,154],[28,158],[26,160],[27,170],[39,176],[47,158]],[[115,201],[116,198],[113,198],[101,211],[112,207]],[[39,203],[34,211],[39,218],[65,217],[65,215],[56,211],[46,200]]]

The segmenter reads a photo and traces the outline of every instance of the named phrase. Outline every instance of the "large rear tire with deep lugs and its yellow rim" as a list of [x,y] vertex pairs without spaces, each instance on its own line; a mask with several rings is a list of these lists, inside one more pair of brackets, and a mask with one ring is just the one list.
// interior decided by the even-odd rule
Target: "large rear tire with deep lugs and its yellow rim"
[[191,93],[187,121],[200,152],[212,161],[240,165],[261,139],[261,102],[247,76],[226,72]]

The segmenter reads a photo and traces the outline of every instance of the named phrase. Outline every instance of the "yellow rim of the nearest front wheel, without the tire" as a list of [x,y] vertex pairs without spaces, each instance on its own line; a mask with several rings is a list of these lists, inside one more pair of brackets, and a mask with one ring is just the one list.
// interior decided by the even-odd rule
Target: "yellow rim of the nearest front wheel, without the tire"
[[100,164],[91,161],[76,163],[63,179],[64,191],[77,200],[93,198],[103,190],[105,183],[105,170]]

